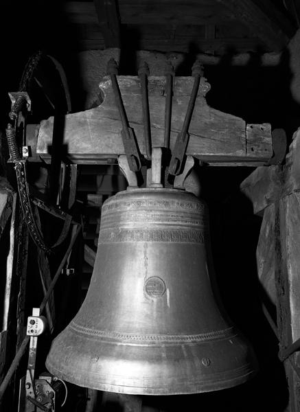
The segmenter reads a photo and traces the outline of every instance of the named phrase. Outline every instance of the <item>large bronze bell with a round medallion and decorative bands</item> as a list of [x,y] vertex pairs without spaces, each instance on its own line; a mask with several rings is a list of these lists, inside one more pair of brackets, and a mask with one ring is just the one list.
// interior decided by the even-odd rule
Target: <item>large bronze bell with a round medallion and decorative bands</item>
[[128,188],[102,207],[86,299],[47,369],[81,387],[141,395],[215,391],[255,374],[253,350],[214,286],[207,206],[183,190]]

